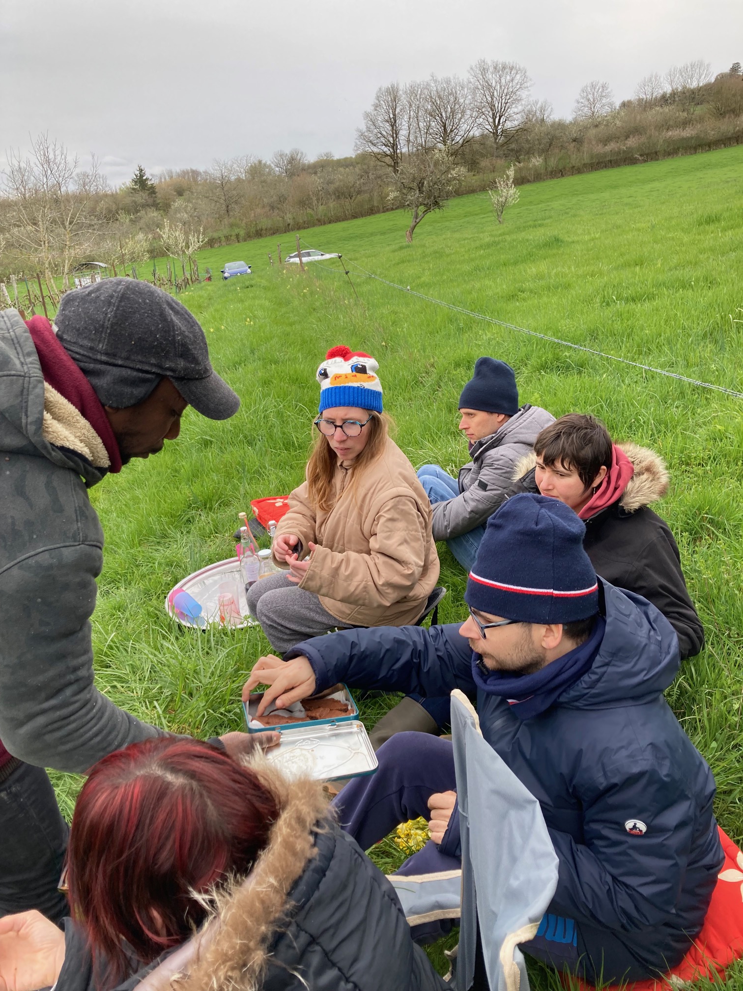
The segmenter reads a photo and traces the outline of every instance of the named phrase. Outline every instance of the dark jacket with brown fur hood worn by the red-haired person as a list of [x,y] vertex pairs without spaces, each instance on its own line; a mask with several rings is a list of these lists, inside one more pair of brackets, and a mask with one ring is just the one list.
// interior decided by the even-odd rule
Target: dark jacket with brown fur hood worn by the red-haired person
[[[274,776],[271,782],[276,783]],[[115,991],[445,991],[411,936],[394,888],[328,819],[322,786],[285,782],[268,846],[212,921]],[[92,962],[65,920],[55,991],[93,991]]]

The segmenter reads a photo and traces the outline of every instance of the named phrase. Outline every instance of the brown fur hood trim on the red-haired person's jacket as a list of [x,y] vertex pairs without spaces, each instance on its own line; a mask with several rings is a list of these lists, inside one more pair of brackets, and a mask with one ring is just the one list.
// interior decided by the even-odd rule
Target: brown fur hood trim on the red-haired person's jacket
[[[264,762],[265,763],[265,762]],[[248,878],[214,899],[211,921],[148,974],[137,991],[256,991],[268,946],[285,922],[287,896],[317,855],[314,834],[329,824],[322,784],[280,778],[254,763],[278,795],[281,812]]]

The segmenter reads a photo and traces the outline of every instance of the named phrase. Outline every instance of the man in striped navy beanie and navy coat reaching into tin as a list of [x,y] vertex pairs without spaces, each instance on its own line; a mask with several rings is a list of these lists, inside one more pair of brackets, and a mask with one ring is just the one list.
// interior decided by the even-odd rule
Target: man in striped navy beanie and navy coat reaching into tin
[[[678,637],[647,600],[596,577],[583,538],[565,503],[515,495],[488,520],[465,623],[307,640],[283,662],[262,658],[245,692],[267,684],[263,705],[279,708],[338,682],[476,696],[484,739],[538,799],[559,860],[552,904],[521,948],[610,984],[680,962],[723,855],[712,774],[663,695],[679,669]],[[376,773],[335,800],[345,828],[367,849],[425,816],[431,840],[400,872],[456,869],[451,742],[402,732],[377,758]]]

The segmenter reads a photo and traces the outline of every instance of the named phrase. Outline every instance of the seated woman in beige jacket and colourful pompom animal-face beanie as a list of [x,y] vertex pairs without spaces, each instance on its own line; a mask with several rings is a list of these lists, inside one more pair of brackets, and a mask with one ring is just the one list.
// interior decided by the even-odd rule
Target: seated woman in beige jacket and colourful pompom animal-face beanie
[[336,626],[403,626],[421,615],[439,577],[431,506],[388,435],[378,365],[331,348],[317,370],[320,415],[306,481],[289,496],[273,541],[282,575],[248,594],[283,653]]

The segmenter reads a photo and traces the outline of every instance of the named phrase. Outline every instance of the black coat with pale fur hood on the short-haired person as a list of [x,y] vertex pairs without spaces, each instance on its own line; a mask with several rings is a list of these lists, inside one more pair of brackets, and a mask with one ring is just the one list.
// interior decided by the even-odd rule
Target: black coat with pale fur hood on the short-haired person
[[[684,661],[704,646],[704,628],[687,590],[674,535],[649,507],[666,495],[668,473],[653,451],[636,444],[618,446],[635,466],[635,474],[617,502],[584,520],[585,552],[601,578],[663,612],[677,632]],[[534,460],[525,458],[517,467],[520,492],[539,491]]]

